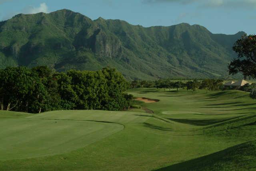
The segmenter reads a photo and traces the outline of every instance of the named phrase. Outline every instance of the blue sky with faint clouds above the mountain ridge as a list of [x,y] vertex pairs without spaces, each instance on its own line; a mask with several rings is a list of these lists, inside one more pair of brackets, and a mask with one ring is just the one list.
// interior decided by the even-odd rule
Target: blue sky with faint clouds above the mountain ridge
[[0,0],[0,20],[61,9],[144,27],[185,22],[212,33],[256,34],[256,0]]

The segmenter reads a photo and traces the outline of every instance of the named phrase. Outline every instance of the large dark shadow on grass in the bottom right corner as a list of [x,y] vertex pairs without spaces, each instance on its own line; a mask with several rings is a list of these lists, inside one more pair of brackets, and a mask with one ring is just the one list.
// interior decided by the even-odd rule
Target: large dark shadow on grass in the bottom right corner
[[255,168],[256,142],[249,141],[222,151],[184,161],[155,171],[250,170]]

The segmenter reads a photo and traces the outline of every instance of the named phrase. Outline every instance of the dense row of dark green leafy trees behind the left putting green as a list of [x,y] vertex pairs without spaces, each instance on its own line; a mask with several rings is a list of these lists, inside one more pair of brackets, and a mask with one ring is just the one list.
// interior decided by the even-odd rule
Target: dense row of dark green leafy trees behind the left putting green
[[52,110],[124,110],[132,95],[115,69],[53,72],[47,67],[0,70],[0,110],[41,113]]

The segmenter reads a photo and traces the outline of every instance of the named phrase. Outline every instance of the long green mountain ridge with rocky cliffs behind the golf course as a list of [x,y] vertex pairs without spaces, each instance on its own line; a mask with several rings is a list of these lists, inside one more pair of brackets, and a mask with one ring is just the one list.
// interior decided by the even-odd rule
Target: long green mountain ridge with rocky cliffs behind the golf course
[[57,71],[117,68],[128,79],[225,78],[244,32],[212,34],[189,24],[144,28],[59,10],[0,22],[0,68],[47,65]]

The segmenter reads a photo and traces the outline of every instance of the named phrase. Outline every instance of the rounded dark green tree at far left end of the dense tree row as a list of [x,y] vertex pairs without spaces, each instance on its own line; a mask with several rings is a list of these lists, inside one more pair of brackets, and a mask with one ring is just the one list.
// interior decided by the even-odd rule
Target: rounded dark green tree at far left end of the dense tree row
[[0,70],[1,109],[40,113],[47,91],[38,74],[26,67]]

